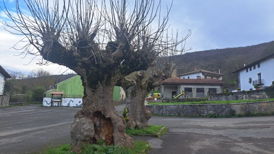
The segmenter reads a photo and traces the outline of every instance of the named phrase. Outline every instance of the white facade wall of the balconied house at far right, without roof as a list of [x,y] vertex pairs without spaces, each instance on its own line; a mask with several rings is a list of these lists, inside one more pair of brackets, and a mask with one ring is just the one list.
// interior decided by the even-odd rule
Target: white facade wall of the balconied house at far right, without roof
[[274,81],[274,58],[268,58],[260,62],[260,67],[258,68],[258,64],[256,64],[256,69],[253,69],[251,66],[251,71],[248,67],[248,72],[246,69],[243,69],[239,72],[240,74],[240,84],[241,91],[248,91],[249,89],[255,90],[252,82],[249,83],[249,78],[251,77],[253,80],[258,80],[258,73],[261,73],[261,78],[264,80],[264,84],[261,86],[270,86],[272,85],[272,81]]

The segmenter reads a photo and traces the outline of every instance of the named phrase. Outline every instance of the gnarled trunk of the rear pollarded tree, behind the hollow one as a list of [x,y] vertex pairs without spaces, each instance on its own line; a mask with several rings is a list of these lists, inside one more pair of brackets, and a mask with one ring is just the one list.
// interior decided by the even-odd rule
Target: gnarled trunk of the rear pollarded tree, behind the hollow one
[[167,75],[157,71],[143,82],[145,77],[145,72],[140,71],[135,74],[135,80],[124,77],[117,83],[124,89],[126,94],[125,107],[129,109],[126,125],[129,128],[148,128],[148,121],[152,112],[145,106],[146,96],[154,87],[160,86],[163,80],[167,78]]

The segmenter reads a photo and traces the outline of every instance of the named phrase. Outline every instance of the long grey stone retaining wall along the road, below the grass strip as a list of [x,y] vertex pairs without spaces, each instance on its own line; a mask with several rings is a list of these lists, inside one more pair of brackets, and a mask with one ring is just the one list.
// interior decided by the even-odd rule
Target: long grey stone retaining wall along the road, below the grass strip
[[186,115],[201,116],[210,113],[227,115],[231,110],[235,114],[251,113],[273,113],[274,101],[259,101],[234,104],[189,104],[189,105],[146,105],[153,114],[160,115]]

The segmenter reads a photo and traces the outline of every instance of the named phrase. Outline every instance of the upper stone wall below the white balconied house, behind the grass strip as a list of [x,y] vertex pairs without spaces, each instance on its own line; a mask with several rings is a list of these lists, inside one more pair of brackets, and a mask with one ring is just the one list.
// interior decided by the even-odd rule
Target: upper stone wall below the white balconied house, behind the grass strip
[[215,94],[209,95],[209,101],[231,101],[231,100],[249,100],[249,99],[267,99],[268,96],[265,94],[265,91],[256,90],[256,91],[241,91],[233,92],[227,94]]

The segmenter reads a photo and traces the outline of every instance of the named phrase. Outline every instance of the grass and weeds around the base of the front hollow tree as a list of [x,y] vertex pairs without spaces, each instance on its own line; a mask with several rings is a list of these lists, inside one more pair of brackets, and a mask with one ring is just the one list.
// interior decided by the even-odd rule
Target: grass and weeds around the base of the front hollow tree
[[[133,149],[130,147],[121,147],[120,145],[106,145],[104,141],[98,141],[98,144],[84,145],[81,154],[139,154],[148,153],[152,147],[149,142],[135,141]],[[46,148],[44,154],[76,154],[70,151],[71,144],[62,145],[58,148]]]

